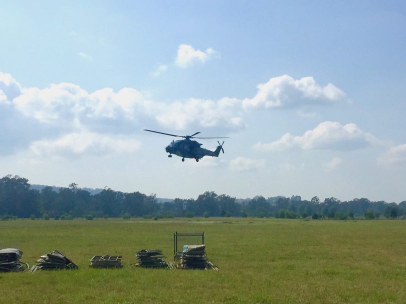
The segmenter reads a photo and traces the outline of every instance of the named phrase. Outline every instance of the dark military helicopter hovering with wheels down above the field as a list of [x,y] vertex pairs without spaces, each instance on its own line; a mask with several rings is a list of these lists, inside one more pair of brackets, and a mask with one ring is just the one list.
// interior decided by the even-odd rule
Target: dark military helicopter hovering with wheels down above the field
[[153,131],[153,130],[147,130],[144,129],[144,131],[148,132],[154,132],[154,133],[159,133],[159,134],[164,134],[164,135],[169,135],[169,136],[174,136],[174,137],[183,137],[184,139],[181,140],[172,140],[171,143],[169,143],[166,147],[165,150],[166,152],[169,153],[168,157],[172,157],[172,154],[175,154],[177,156],[182,157],[182,161],[184,161],[184,158],[194,158],[196,161],[199,161],[200,158],[203,156],[219,156],[220,150],[223,151],[223,143],[220,143],[219,140],[217,142],[219,145],[217,146],[216,150],[211,151],[205,148],[202,148],[201,145],[202,143],[197,142],[196,140],[190,140],[191,138],[230,138],[230,137],[194,137],[194,135],[197,135],[200,132],[195,132],[192,135],[175,135],[175,134],[169,134],[169,133],[164,133],[164,132],[158,132],[158,131]]

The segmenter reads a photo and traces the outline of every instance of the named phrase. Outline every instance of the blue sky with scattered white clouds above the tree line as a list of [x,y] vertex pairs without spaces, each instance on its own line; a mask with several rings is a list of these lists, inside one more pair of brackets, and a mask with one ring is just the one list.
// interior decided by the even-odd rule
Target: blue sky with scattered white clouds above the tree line
[[[406,200],[404,1],[6,1],[0,175]],[[171,136],[228,136],[167,157]],[[200,139],[215,149],[216,139]]]

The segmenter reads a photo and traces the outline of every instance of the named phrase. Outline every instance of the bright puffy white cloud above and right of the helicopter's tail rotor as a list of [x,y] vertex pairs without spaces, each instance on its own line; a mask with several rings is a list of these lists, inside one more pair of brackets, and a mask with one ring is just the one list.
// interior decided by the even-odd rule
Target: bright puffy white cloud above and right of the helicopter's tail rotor
[[258,84],[253,98],[243,100],[244,108],[301,107],[311,104],[330,104],[343,99],[344,92],[334,84],[320,86],[313,77],[294,79],[289,75],[273,77]]

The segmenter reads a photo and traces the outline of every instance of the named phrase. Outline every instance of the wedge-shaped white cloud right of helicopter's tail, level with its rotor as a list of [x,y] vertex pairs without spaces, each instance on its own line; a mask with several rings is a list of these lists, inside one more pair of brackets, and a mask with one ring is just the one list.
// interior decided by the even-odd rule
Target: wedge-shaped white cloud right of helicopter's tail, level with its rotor
[[375,144],[377,139],[370,133],[362,131],[356,124],[341,125],[339,122],[324,121],[302,136],[290,133],[270,143],[258,142],[254,145],[259,150],[278,150],[289,148],[352,150]]

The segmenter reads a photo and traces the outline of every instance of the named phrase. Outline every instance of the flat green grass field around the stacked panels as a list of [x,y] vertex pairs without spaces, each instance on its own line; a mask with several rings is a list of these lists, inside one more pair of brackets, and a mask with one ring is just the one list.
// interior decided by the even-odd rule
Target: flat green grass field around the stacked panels
[[[129,267],[173,232],[206,233],[220,271]],[[405,303],[406,221],[274,218],[121,218],[0,221],[0,248],[32,265],[58,249],[78,270],[0,273],[1,303]],[[92,269],[122,254],[122,269]]]

